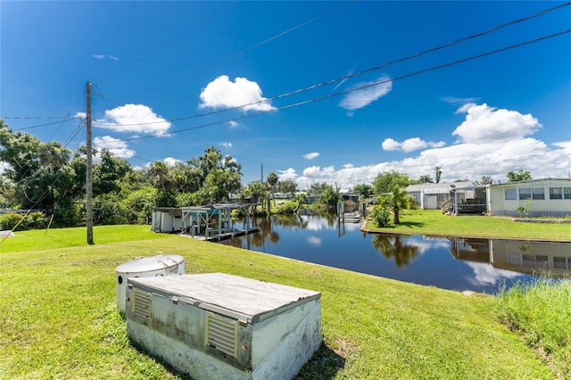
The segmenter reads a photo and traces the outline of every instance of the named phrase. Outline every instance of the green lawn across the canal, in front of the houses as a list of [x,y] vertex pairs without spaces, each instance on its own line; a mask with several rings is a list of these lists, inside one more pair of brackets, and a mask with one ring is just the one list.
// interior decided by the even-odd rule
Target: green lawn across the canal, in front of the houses
[[481,215],[443,215],[438,210],[406,211],[401,224],[379,228],[368,220],[367,230],[388,234],[440,235],[571,242],[571,223],[523,223]]

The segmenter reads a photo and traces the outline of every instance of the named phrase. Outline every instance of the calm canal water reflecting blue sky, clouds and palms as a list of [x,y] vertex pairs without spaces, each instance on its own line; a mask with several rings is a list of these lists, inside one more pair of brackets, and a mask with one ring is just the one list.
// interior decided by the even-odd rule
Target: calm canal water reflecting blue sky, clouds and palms
[[443,289],[497,293],[536,275],[571,276],[571,244],[366,234],[359,223],[302,215],[254,220],[261,231],[220,242]]

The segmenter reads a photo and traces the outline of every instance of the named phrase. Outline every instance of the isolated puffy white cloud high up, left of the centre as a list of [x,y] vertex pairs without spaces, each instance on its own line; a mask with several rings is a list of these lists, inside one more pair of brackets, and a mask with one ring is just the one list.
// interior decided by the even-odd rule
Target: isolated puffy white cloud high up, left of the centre
[[228,75],[212,80],[200,94],[201,108],[241,107],[246,111],[272,111],[276,108],[261,95],[261,87],[247,78],[236,77],[234,82]]

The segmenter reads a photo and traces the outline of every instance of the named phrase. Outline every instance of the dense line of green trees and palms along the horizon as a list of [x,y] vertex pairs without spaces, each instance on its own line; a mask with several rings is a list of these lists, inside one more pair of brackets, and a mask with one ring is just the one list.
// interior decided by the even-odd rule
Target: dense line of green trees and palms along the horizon
[[[96,149],[93,165],[94,222],[96,224],[148,223],[154,207],[197,206],[238,200],[262,203],[270,208],[272,194],[296,196],[297,206],[287,204],[285,211],[296,211],[307,202],[293,180],[280,181],[275,172],[265,180],[242,185],[242,166],[230,155],[211,146],[186,162],[167,165],[154,161],[145,168],[134,168],[106,149]],[[0,209],[41,211],[53,215],[55,225],[79,226],[85,222],[87,148],[76,152],[61,143],[41,142],[36,136],[12,131],[0,119]],[[434,168],[435,182],[443,174]],[[509,180],[531,179],[528,171],[509,172]],[[489,182],[488,182],[489,181]],[[396,170],[379,173],[372,184],[352,188],[362,200],[393,194],[413,184],[434,182],[430,175],[418,179]],[[482,178],[491,183],[491,178]],[[314,183],[309,194],[319,194],[319,206],[335,208],[341,200],[337,186]],[[274,201],[274,207],[276,206]],[[255,211],[256,209],[254,209]],[[33,215],[30,226],[42,225]]]

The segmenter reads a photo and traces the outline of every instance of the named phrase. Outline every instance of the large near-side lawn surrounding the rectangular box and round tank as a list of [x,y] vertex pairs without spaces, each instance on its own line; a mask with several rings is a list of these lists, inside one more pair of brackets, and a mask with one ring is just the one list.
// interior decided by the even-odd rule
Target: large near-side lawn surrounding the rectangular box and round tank
[[[120,234],[123,227],[114,228]],[[148,229],[139,231],[139,240],[131,231],[122,243],[103,244],[95,229],[91,246],[83,244],[84,235],[66,239],[70,234],[58,237],[66,248],[14,252],[9,249],[14,245],[1,245],[0,377],[184,377],[137,351],[115,308],[118,265],[174,252],[186,258],[189,274],[225,272],[322,293],[324,344],[299,378],[557,378],[499,322],[492,296],[468,297],[177,235],[153,239],[147,234]],[[52,238],[10,239],[42,246]]]

